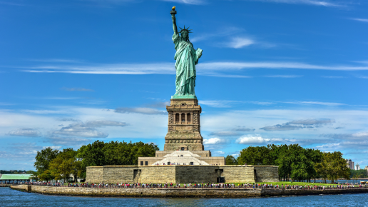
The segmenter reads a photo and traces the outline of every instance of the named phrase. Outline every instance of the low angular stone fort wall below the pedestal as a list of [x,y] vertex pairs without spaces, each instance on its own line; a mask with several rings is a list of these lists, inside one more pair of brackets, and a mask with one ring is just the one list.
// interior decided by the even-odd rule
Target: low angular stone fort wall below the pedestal
[[277,166],[98,166],[89,183],[254,183],[279,181]]

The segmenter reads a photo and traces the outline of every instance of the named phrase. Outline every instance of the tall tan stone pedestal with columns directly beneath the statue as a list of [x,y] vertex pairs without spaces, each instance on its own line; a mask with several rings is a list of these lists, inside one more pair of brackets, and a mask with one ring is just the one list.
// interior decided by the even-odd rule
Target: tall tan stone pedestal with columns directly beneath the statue
[[203,151],[200,135],[200,113],[197,99],[170,99],[168,110],[168,133],[164,151]]

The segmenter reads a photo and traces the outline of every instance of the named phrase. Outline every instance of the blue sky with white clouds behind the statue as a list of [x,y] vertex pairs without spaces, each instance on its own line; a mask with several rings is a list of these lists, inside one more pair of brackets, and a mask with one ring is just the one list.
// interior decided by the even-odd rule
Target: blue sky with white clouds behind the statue
[[0,0],[0,169],[36,151],[157,143],[175,94],[170,9],[203,49],[213,156],[300,143],[368,165],[368,2]]

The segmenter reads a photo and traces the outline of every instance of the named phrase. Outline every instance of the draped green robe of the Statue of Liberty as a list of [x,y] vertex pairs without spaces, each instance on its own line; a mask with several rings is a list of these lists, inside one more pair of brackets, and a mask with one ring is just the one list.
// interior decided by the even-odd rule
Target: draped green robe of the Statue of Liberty
[[173,35],[175,44],[176,60],[176,92],[175,95],[195,95],[195,65],[198,64],[198,59],[202,53],[200,49],[193,48],[190,41],[185,41],[179,34]]

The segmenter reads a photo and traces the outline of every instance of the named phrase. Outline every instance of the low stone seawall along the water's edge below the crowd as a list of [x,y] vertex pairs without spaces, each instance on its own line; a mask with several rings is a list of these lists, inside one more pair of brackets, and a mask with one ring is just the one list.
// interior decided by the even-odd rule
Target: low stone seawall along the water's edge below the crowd
[[307,196],[320,194],[368,193],[368,188],[336,190],[286,190],[271,188],[74,188],[11,186],[14,190],[59,196],[158,197],[158,198],[246,198],[260,196]]

